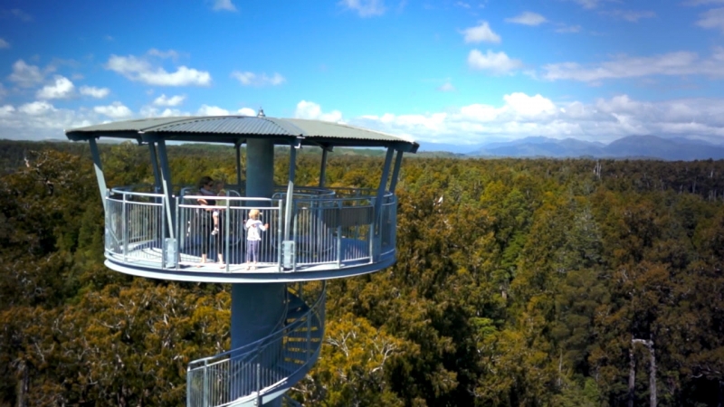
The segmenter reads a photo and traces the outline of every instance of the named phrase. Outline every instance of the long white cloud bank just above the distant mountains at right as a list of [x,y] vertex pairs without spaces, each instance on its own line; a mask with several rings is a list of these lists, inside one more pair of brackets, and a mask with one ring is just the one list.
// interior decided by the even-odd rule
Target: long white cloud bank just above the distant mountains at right
[[530,136],[574,137],[611,142],[620,137],[654,134],[689,136],[711,141],[724,137],[724,99],[674,99],[657,102],[627,95],[592,103],[554,102],[542,95],[511,93],[498,105],[472,104],[444,112],[362,116],[350,124],[420,142],[481,143],[486,139]]

